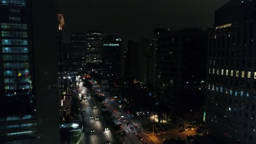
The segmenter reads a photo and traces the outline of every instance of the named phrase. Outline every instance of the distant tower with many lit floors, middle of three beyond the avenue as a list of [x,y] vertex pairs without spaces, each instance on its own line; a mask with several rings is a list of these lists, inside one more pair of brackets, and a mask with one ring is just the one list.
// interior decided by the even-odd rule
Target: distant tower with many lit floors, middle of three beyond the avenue
[[101,71],[103,34],[98,31],[88,31],[86,37],[86,70]]

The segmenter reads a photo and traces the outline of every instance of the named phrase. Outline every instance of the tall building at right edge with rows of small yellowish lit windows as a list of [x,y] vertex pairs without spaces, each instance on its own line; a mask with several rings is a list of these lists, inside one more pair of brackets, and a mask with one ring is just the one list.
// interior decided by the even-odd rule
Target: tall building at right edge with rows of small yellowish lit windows
[[239,143],[256,143],[255,1],[232,0],[215,12],[209,36],[206,123]]

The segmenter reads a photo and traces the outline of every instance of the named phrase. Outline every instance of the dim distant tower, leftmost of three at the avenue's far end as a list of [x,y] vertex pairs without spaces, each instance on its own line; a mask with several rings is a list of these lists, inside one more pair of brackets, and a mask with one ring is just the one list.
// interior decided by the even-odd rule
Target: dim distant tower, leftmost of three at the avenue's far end
[[85,34],[71,34],[71,49],[69,51],[69,59],[71,59],[72,70],[77,70],[85,66]]

